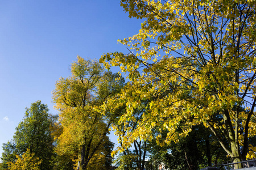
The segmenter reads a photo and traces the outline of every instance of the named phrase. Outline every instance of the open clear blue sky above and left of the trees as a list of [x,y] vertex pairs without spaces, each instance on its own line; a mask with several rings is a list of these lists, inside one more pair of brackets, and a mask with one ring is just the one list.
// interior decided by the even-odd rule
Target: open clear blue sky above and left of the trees
[[0,156],[31,103],[41,100],[57,113],[51,92],[60,76],[69,76],[77,55],[128,53],[117,40],[141,26],[116,0],[3,0],[0,23]]

